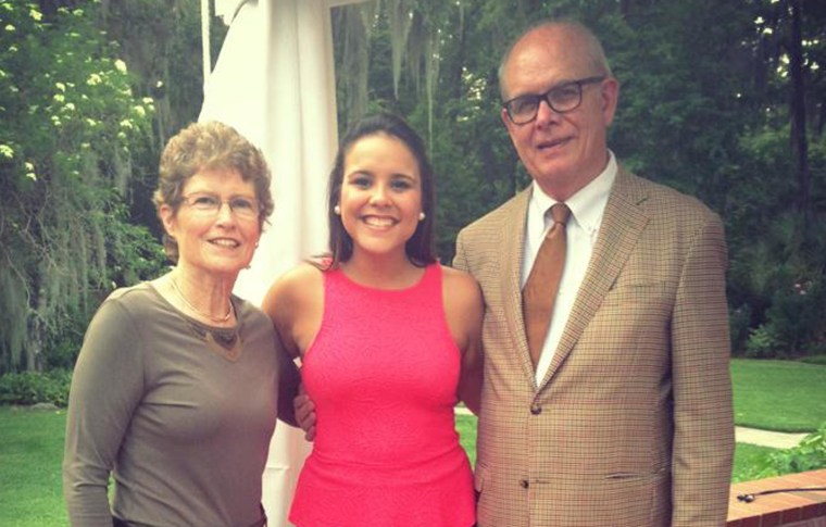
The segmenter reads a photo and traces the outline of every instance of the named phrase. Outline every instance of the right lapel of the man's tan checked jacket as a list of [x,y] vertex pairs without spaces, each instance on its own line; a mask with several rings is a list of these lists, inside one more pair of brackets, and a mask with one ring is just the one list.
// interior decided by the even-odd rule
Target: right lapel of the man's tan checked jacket
[[625,266],[625,262],[649,221],[640,206],[647,199],[648,193],[637,184],[636,176],[621,167],[605,205],[588,271],[579,286],[571,316],[540,389],[548,385],[571,354],[583,331],[597,313],[602,299]]

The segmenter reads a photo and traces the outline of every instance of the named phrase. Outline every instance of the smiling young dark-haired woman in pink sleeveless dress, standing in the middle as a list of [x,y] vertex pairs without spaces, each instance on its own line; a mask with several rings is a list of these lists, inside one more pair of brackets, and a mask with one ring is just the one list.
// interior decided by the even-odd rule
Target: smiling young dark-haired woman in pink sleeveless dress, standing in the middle
[[264,300],[316,412],[299,527],[475,523],[453,406],[478,407],[481,294],[436,261],[433,189],[415,131],[388,114],[360,121],[330,173],[330,254]]

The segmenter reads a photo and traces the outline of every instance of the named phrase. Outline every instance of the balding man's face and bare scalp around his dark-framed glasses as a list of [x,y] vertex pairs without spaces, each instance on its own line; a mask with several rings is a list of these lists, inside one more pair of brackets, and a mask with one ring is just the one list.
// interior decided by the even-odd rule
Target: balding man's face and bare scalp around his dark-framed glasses
[[[599,76],[578,34],[541,27],[514,47],[504,68],[506,99],[541,95],[552,88]],[[614,117],[618,85],[613,77],[583,85],[581,103],[558,113],[540,102],[534,121],[516,125],[502,110],[508,133],[530,176],[546,193],[563,201],[596,178],[608,163],[605,135]]]

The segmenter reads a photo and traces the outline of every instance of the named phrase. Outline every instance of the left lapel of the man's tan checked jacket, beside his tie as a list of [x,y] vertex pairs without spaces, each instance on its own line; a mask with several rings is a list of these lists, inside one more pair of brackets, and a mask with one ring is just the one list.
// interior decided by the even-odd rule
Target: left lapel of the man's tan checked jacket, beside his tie
[[523,190],[512,201],[511,210],[505,218],[502,234],[502,283],[501,291],[504,300],[504,316],[508,327],[516,342],[516,353],[525,376],[536,386],[534,366],[528,351],[528,339],[525,334],[525,322],[522,315],[522,261],[525,252],[525,221],[533,186]]

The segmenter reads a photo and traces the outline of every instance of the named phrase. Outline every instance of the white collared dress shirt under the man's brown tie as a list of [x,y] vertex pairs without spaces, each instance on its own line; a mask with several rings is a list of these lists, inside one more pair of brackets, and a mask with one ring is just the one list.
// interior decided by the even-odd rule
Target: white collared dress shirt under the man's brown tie
[[[548,327],[548,335],[542,346],[539,363],[536,367],[536,384],[542,381],[545,374],[551,365],[553,354],[560,343],[562,331],[565,329],[571,310],[576,300],[576,293],[583,284],[588,262],[593,253],[593,244],[597,242],[602,213],[605,211],[611,187],[616,179],[616,159],[609,151],[609,161],[605,170],[585,188],[572,196],[565,204],[571,209],[565,235],[567,248],[565,251],[565,267],[562,271],[562,281],[553,304],[553,315]],[[546,221],[546,212],[556,203],[548,197],[534,181],[534,190],[528,203],[528,217],[525,228],[525,253],[522,263],[522,280],[520,287],[525,286],[530,268],[536,260],[539,246],[542,243],[548,229],[551,228],[551,219]]]

